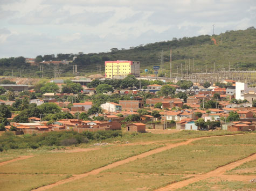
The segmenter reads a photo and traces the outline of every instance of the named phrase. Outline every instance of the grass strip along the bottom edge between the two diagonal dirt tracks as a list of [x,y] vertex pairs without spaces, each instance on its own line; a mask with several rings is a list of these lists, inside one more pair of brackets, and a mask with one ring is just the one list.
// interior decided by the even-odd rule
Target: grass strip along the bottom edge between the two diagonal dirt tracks
[[100,173],[86,178],[65,183],[50,190],[154,190],[183,177],[177,175],[162,174],[138,174],[138,173]]

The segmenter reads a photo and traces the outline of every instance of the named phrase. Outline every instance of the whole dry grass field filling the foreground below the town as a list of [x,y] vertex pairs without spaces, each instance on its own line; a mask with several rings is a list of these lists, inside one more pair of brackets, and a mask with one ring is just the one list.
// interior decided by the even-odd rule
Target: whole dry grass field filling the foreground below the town
[[[85,144],[71,150],[10,150],[0,153],[0,160],[33,157],[0,165],[0,190],[169,190],[165,187],[174,182],[193,179],[192,184],[178,190],[256,189],[256,183],[248,181],[255,177],[255,156],[223,173],[217,171],[216,177],[204,178],[205,173],[256,153],[256,134],[218,136],[225,134],[230,133],[148,133],[135,139],[123,136],[118,143],[110,139],[106,140],[108,145]],[[103,166],[106,168],[98,171]]]

